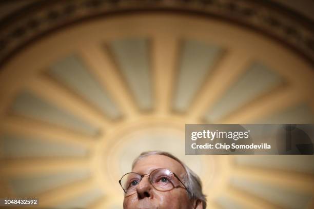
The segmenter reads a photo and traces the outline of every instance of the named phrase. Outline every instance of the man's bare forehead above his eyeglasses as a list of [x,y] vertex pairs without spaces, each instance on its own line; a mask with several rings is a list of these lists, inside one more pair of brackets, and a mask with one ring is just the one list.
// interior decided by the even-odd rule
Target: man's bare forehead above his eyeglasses
[[183,166],[176,160],[165,155],[149,155],[136,162],[132,172],[139,174],[149,174],[155,169],[169,169],[176,175],[185,173]]

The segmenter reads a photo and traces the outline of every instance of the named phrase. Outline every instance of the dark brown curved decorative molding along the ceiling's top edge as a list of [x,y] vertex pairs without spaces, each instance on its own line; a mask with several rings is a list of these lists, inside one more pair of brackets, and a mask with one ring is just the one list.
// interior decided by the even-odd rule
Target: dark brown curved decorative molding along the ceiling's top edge
[[[37,5],[36,5],[37,4]],[[0,23],[0,66],[32,41],[61,27],[128,12],[185,12],[220,18],[279,40],[314,64],[312,23],[286,10],[250,0],[68,0],[38,1]]]

